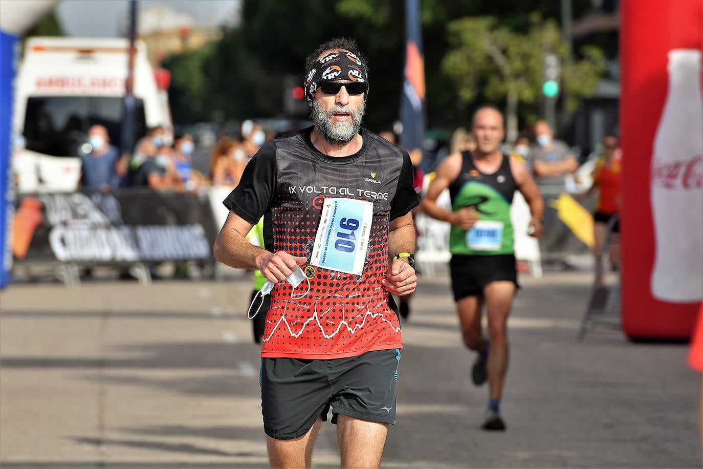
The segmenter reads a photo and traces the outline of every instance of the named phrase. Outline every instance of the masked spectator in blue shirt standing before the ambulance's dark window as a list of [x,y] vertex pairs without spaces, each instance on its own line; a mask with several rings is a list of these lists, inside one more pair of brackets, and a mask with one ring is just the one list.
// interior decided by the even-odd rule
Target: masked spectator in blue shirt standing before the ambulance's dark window
[[108,191],[120,186],[124,168],[120,165],[120,152],[110,145],[108,129],[93,125],[88,131],[92,150],[81,158],[81,186],[87,191]]

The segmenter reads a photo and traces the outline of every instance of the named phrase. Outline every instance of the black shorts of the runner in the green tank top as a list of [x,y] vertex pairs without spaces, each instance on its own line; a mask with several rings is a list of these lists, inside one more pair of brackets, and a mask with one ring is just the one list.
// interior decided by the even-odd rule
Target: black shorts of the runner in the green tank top
[[515,255],[452,255],[449,261],[454,301],[481,295],[483,288],[495,281],[511,281],[517,287]]

